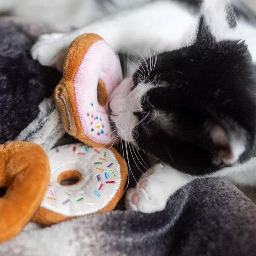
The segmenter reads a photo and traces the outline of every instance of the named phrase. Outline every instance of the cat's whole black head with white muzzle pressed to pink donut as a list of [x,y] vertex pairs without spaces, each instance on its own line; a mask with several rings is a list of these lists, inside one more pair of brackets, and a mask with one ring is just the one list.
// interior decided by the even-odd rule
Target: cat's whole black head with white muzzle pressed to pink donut
[[256,68],[245,43],[218,38],[207,17],[191,46],[146,60],[109,103],[121,138],[197,175],[255,152]]

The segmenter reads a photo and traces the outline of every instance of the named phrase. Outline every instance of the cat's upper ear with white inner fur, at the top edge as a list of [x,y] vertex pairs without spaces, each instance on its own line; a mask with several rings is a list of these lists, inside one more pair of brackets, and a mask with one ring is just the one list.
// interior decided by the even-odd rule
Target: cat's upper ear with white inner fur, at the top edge
[[197,41],[240,40],[233,7],[227,0],[203,0]]

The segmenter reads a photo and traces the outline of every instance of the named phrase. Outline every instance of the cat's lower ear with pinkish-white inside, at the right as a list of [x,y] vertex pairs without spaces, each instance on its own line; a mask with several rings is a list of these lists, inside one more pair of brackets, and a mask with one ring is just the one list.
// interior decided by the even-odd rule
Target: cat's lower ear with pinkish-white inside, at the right
[[237,162],[246,150],[245,130],[231,121],[222,126],[206,122],[205,128],[212,143],[212,163],[232,165]]

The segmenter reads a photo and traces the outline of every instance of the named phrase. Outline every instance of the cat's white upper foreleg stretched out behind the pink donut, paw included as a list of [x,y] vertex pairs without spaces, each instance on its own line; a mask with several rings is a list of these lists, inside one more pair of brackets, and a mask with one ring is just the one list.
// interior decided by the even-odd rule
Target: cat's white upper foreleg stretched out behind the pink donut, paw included
[[157,1],[103,18],[70,33],[43,35],[33,46],[31,54],[42,65],[62,70],[70,43],[83,33],[99,34],[117,51],[137,48],[144,54],[148,52],[149,45],[149,48],[154,47],[156,52],[161,52],[180,47],[185,37],[190,37],[188,34],[192,33],[191,26],[195,27],[196,21],[197,18],[182,6],[170,1]]

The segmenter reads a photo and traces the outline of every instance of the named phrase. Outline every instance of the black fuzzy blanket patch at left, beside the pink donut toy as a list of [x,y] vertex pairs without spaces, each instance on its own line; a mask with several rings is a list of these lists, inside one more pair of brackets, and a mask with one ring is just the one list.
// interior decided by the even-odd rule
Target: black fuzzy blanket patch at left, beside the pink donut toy
[[15,137],[37,117],[61,74],[31,59],[36,37],[0,19],[0,144]]

